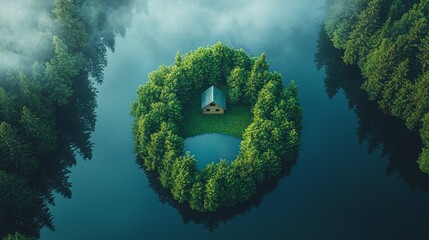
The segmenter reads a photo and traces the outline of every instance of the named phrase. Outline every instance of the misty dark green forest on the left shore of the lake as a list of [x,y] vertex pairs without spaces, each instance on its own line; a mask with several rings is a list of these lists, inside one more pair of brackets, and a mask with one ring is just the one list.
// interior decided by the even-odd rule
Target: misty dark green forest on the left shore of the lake
[[23,26],[36,36],[18,39],[13,33],[19,26],[12,22],[0,42],[0,57],[10,63],[0,67],[0,238],[5,239],[54,229],[48,209],[53,193],[70,198],[68,173],[76,154],[91,159],[95,84],[103,81],[107,49],[114,49],[115,36],[125,29],[109,21],[109,14],[126,10],[130,1],[25,4],[34,19]]

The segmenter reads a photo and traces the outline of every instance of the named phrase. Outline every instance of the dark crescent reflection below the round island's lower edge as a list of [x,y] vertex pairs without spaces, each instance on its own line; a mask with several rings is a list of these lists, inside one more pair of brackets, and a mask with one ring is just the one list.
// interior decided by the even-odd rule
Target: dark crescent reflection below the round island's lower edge
[[224,208],[214,213],[201,213],[195,210],[192,210],[186,204],[179,204],[176,200],[174,200],[170,191],[161,186],[158,180],[158,175],[154,172],[149,172],[137,161],[141,168],[145,171],[149,186],[153,189],[153,191],[158,195],[159,200],[163,204],[168,204],[180,213],[182,216],[182,221],[184,224],[188,224],[190,222],[194,222],[196,224],[201,224],[208,231],[215,230],[220,223],[226,223],[228,221],[233,220],[235,217],[239,215],[244,215],[247,212],[251,211],[253,208],[258,208],[261,204],[264,197],[271,192],[273,192],[280,180],[290,175],[293,166],[296,165],[296,159],[293,161],[284,161],[282,166],[282,171],[278,178],[272,179],[270,181],[265,182],[261,186],[257,188],[256,194],[251,197],[248,201],[238,204],[235,207]]

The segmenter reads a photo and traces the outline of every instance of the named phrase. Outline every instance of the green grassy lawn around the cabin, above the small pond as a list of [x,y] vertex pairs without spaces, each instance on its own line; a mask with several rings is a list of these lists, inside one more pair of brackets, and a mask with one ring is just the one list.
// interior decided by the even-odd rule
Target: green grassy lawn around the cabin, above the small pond
[[[228,96],[225,87],[219,88]],[[252,122],[250,107],[244,104],[232,105],[227,98],[225,114],[202,114],[201,93],[204,90],[206,88],[197,91],[191,103],[185,107],[184,126],[181,128],[182,137],[187,138],[205,133],[222,133],[241,138],[246,127]]]

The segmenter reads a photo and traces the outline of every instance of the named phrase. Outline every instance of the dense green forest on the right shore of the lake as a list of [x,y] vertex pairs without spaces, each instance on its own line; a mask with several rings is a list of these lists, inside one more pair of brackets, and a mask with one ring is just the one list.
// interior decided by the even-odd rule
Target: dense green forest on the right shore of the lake
[[[418,163],[429,173],[429,2],[427,0],[332,0],[326,33],[356,64],[361,87],[384,112],[419,131]],[[392,129],[392,131],[394,131]]]

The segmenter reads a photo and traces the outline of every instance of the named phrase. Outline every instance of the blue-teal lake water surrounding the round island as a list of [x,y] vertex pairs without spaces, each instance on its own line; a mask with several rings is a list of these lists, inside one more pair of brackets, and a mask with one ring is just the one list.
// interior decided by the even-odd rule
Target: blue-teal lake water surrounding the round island
[[[93,160],[71,169],[73,197],[56,197],[56,231],[44,229],[41,239],[427,239],[429,180],[417,171],[415,135],[345,83],[361,81],[358,72],[315,68],[324,1],[202,2],[149,1],[134,13],[98,89]],[[248,205],[198,215],[139,169],[129,106],[147,74],[178,50],[217,41],[265,51],[271,70],[296,81],[303,144],[296,164]],[[344,88],[332,99],[326,77],[328,90]],[[187,148],[199,159],[220,154],[198,153],[193,140]]]

